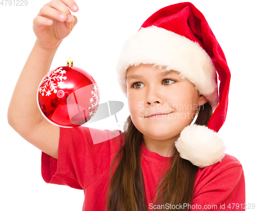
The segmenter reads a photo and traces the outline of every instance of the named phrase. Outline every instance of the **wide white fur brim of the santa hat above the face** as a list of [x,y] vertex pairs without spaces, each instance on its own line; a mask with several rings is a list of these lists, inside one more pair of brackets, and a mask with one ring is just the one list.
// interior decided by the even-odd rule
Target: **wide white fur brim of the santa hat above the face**
[[209,100],[213,111],[218,106],[215,66],[205,50],[194,41],[155,26],[142,28],[128,38],[117,61],[118,81],[126,97],[126,71],[140,64],[154,64],[179,72]]

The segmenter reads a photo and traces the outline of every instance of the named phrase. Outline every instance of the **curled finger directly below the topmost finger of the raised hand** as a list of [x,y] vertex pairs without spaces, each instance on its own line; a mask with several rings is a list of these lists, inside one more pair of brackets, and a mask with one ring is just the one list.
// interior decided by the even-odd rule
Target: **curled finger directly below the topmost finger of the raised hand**
[[48,19],[56,19],[59,20],[60,22],[65,22],[67,19],[67,15],[65,13],[61,13],[60,11],[49,7],[48,5],[45,5],[42,7],[38,13],[39,16],[46,17]]

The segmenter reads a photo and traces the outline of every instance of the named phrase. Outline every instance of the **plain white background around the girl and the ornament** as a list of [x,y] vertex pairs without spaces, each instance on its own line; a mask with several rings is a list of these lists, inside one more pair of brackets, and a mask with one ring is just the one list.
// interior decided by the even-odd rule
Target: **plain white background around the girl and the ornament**
[[[2,1],[2,0],[0,0]],[[9,126],[7,110],[15,83],[34,45],[32,22],[48,1],[28,0],[28,6],[0,5],[1,59],[1,203],[0,210],[74,210],[82,209],[83,192],[67,186],[47,184],[41,178],[41,152]],[[124,102],[117,113],[119,123],[129,111],[126,98],[116,81],[115,65],[120,49],[142,23],[162,7],[178,1],[84,1],[77,0],[78,24],[58,49],[51,69],[74,65],[88,71],[100,89],[100,103]],[[219,132],[226,153],[238,158],[246,179],[246,202],[256,203],[255,182],[255,1],[191,1],[206,17],[215,33],[231,70],[229,108]],[[89,125],[90,126],[90,125]],[[114,129],[115,117],[92,127]]]

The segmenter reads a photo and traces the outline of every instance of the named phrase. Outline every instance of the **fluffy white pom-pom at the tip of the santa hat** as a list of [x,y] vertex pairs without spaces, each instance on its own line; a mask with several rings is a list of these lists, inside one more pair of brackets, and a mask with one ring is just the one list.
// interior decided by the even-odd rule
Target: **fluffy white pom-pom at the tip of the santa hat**
[[215,131],[196,124],[182,130],[175,146],[183,159],[200,168],[220,162],[226,150]]

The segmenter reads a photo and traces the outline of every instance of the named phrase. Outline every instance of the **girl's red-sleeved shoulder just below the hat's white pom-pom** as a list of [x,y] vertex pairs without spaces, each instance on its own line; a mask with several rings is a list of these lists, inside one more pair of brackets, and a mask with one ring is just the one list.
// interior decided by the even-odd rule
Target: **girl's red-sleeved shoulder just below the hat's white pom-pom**
[[225,154],[221,162],[199,168],[194,200],[206,204],[245,203],[244,172],[239,160]]

